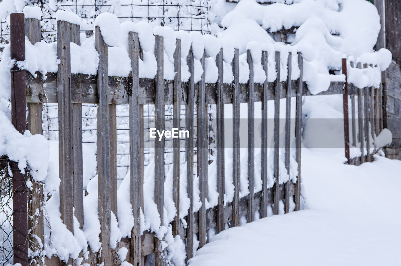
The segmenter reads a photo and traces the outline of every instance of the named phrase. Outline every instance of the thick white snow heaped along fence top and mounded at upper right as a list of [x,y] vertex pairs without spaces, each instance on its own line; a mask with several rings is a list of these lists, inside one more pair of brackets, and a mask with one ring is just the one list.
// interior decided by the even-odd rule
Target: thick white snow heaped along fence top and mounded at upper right
[[[28,9],[26,12],[35,17],[39,15],[38,12],[30,12]],[[365,14],[360,14],[364,12]],[[57,20],[80,24],[76,14],[61,10],[57,12]],[[373,68],[369,67],[367,70],[349,71],[349,82],[360,88],[379,86],[380,72],[391,63],[391,53],[388,50],[382,49],[372,53],[372,47],[379,32],[379,18],[374,6],[363,0],[340,1],[340,4],[328,0],[303,0],[291,5],[276,3],[268,6],[261,6],[254,0],[242,0],[221,20],[221,24],[227,29],[219,32],[217,38],[209,34],[202,36],[199,32],[188,34],[183,31],[173,31],[169,27],[162,26],[156,26],[152,30],[146,22],[120,24],[117,17],[110,13],[100,14],[94,24],[100,27],[105,42],[110,46],[108,48],[109,76],[128,76],[131,71],[131,61],[127,52],[129,31],[139,33],[140,46],[143,50],[143,58],[139,63],[141,78],[154,78],[156,75],[154,35],[164,37],[164,79],[166,80],[174,79],[173,53],[176,38],[181,40],[182,58],[186,57],[189,48],[192,48],[195,60],[195,82],[201,79],[203,71],[205,71],[207,83],[217,81],[215,56],[221,47],[223,47],[225,83],[233,82],[231,61],[234,47],[239,48],[241,54],[239,69],[241,83],[249,80],[247,49],[251,50],[253,57],[256,83],[265,81],[265,73],[259,60],[262,50],[266,50],[269,54],[267,74],[269,82],[276,78],[274,51],[281,51],[280,80],[282,81],[287,78],[288,52],[292,52],[293,56],[296,56],[297,51],[302,52],[305,59],[304,81],[312,94],[327,90],[331,81],[344,81],[343,75],[329,74],[330,69],[341,69],[343,54],[357,58],[356,62],[373,64]],[[275,31],[293,26],[299,26],[299,28],[296,30],[295,40],[291,45],[275,42],[265,31],[265,29]],[[202,69],[199,61],[204,49],[208,56],[205,60],[205,70]],[[30,73],[56,72],[59,61],[55,58],[56,45],[54,43],[40,42],[32,45],[26,41],[26,50],[27,58],[24,65]],[[5,85],[8,84],[8,74],[6,74],[10,69],[10,62],[7,60],[8,47],[4,49],[3,57],[0,63],[0,76],[3,80],[0,82],[0,92],[6,92]],[[81,34],[81,46],[72,45],[71,47],[71,73],[96,74],[97,62],[98,54],[94,36],[86,38],[85,34]],[[187,81],[189,76],[188,65],[183,60],[181,80]],[[294,58],[292,79],[296,80],[298,77],[298,62]]]

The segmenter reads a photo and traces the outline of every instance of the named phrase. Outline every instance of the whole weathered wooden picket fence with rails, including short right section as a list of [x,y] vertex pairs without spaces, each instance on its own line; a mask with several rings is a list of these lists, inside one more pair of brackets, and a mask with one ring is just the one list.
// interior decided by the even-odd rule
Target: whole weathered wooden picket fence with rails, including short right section
[[[18,14],[17,16],[23,16]],[[12,16],[13,18],[13,16]],[[13,23],[13,21],[12,21]],[[40,24],[33,18],[26,20],[26,36],[30,42],[40,40]],[[275,52],[275,64],[277,69],[277,80],[264,84],[253,82],[253,58],[250,50],[247,50],[247,62],[249,64],[250,78],[247,84],[239,83],[239,50],[235,49],[233,59],[234,82],[225,84],[223,82],[223,48],[216,57],[218,68],[218,79],[215,84],[205,83],[205,73],[199,82],[194,82],[194,58],[190,50],[187,56],[190,79],[188,82],[181,82],[181,40],[176,40],[174,52],[173,81],[164,80],[163,76],[163,37],[155,36],[154,54],[157,61],[157,73],[154,79],[139,78],[139,58],[142,50],[139,44],[138,33],[129,32],[129,56],[132,64],[132,72],[129,77],[115,77],[107,74],[107,44],[98,26],[95,26],[95,46],[99,53],[99,66],[97,75],[71,74],[70,66],[70,45],[74,42],[79,45],[79,26],[66,21],[57,22],[57,56],[61,59],[57,73],[48,73],[44,79],[41,73],[37,72],[34,78],[26,73],[26,102],[28,103],[29,129],[32,134],[41,134],[41,105],[43,103],[58,103],[59,110],[59,177],[60,184],[60,212],[63,223],[67,229],[73,232],[73,218],[77,218],[79,225],[83,226],[83,163],[82,163],[82,129],[81,115],[83,103],[98,104],[97,115],[97,172],[98,172],[98,208],[99,221],[101,224],[100,242],[102,243],[101,254],[91,254],[87,263],[95,265],[104,262],[104,265],[114,265],[115,251],[110,248],[110,214],[117,214],[117,179],[116,179],[116,104],[128,104],[130,112],[130,197],[132,212],[134,215],[134,227],[131,238],[126,240],[129,247],[129,260],[133,265],[144,265],[144,256],[155,253],[155,264],[163,265],[160,255],[163,248],[160,240],[153,233],[141,232],[141,209],[144,210],[143,182],[144,182],[144,149],[143,149],[143,105],[154,104],[155,106],[155,128],[164,130],[164,105],[174,106],[174,123],[179,123],[180,106],[186,106],[186,130],[189,131],[189,138],[186,140],[186,167],[187,167],[187,191],[190,199],[188,216],[184,217],[186,226],[180,222],[179,217],[179,178],[180,178],[180,141],[173,141],[173,201],[177,209],[176,217],[172,222],[174,235],[186,239],[187,258],[193,256],[195,233],[198,233],[199,247],[207,242],[207,230],[213,227],[217,232],[225,230],[230,222],[232,226],[240,225],[240,218],[247,216],[247,222],[253,221],[254,213],[260,210],[261,217],[267,216],[267,207],[273,205],[273,214],[279,213],[279,201],[284,200],[285,212],[290,211],[290,201],[294,200],[295,210],[300,209],[300,171],[301,171],[301,136],[302,136],[302,97],[312,95],[303,77],[303,58],[298,54],[298,65],[300,67],[300,78],[292,80],[292,55],[288,56],[288,78],[281,82],[280,78],[280,52]],[[21,34],[23,32],[12,32]],[[24,42],[24,38],[20,38]],[[205,67],[207,52],[204,51],[201,64]],[[267,52],[262,52],[262,66],[267,76]],[[357,68],[361,68],[360,64]],[[366,67],[366,66],[364,66]],[[344,70],[343,70],[344,71]],[[22,70],[24,72],[24,70]],[[346,70],[344,72],[346,74]],[[347,86],[344,86],[347,85]],[[381,122],[381,94],[380,90],[361,90],[344,82],[332,82],[327,91],[318,95],[344,94],[344,106],[348,104],[348,96],[351,96],[351,142],[356,146],[357,140],[361,143],[362,156],[360,159],[353,159],[354,164],[364,161],[371,161],[371,154],[366,154],[363,143],[367,139],[367,150],[369,152],[369,138],[378,134],[382,125]],[[358,96],[358,117],[355,119],[356,103],[355,96]],[[291,97],[296,97],[296,124],[291,128]],[[296,135],[296,162],[298,174],[296,182],[289,181],[284,184],[279,182],[279,103],[280,99],[286,99],[286,135],[285,135],[285,168],[290,173],[290,132],[295,130]],[[274,101],[274,158],[273,176],[275,184],[267,186],[267,101]],[[254,192],[254,102],[261,102],[261,180],[262,190]],[[239,105],[247,103],[248,108],[248,182],[249,194],[240,198],[240,157],[239,157]],[[216,105],[217,117],[217,192],[219,194],[217,206],[206,209],[208,195],[208,158],[207,158],[207,104]],[[233,185],[234,198],[232,202],[224,204],[225,193],[225,163],[224,163],[224,105],[233,105]],[[197,142],[194,143],[194,108],[196,107]],[[365,114],[365,116],[363,115]],[[369,115],[367,115],[369,114]],[[348,108],[344,112],[344,128],[348,123]],[[358,121],[358,125],[356,125]],[[371,131],[369,131],[369,122]],[[358,126],[358,138],[356,138],[356,126]],[[179,124],[173,127],[178,128]],[[348,135],[348,130],[346,134]],[[344,137],[347,142],[347,137]],[[362,141],[360,141],[362,140]],[[349,137],[348,137],[349,142]],[[194,212],[194,146],[197,146],[197,173],[199,176],[200,201],[202,206],[199,211]],[[346,143],[347,146],[347,143]],[[348,143],[349,147],[349,143]],[[154,202],[157,205],[158,213],[163,224],[164,211],[164,137],[161,141],[155,139],[155,178],[154,178]],[[349,159],[349,151],[348,151]],[[30,249],[35,250],[43,243],[43,213],[41,202],[43,201],[43,188],[41,184],[34,184],[33,194],[29,201],[30,206],[30,233],[36,235],[30,241]],[[15,202],[14,202],[15,204]],[[39,210],[38,212],[36,210]],[[74,211],[75,210],[75,211]],[[127,210],[129,211],[129,210]],[[14,220],[14,228],[18,228]],[[123,240],[124,242],[124,240]],[[97,256],[98,255],[98,256]],[[58,258],[47,259],[46,265],[59,264]],[[14,263],[20,262],[14,260]],[[23,260],[21,260],[22,263]],[[70,259],[69,264],[72,264]],[[28,264],[23,264],[28,265]]]

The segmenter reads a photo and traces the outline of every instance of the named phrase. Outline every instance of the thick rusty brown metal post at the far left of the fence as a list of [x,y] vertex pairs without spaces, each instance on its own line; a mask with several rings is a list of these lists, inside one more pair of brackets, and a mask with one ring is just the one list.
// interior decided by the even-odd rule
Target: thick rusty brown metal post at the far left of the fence
[[[22,13],[10,14],[11,59],[25,60],[25,18]],[[26,129],[25,70],[14,64],[11,69],[11,122],[16,130],[24,133]],[[12,201],[13,201],[13,236],[14,264],[28,266],[28,190],[26,175],[18,169],[16,162],[11,162]]]

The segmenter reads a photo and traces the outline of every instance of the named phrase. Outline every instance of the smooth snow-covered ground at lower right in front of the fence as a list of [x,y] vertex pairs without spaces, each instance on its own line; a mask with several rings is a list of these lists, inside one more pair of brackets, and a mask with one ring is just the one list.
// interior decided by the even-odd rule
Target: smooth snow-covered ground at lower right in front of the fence
[[306,210],[225,230],[189,265],[401,265],[401,162],[335,153],[302,149]]

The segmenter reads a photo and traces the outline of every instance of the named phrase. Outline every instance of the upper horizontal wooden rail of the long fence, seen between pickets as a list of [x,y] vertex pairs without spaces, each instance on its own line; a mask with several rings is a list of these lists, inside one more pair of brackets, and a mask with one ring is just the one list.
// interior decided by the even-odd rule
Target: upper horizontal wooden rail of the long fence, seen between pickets
[[[26,88],[26,101],[28,103],[45,103],[45,102],[57,102],[57,89],[55,73],[47,73],[46,80],[43,80],[43,76],[40,72],[35,72],[37,75],[34,78],[30,73],[26,73],[26,84],[29,84],[29,88]],[[97,99],[97,80],[95,75],[87,74],[71,74],[71,83],[73,84],[72,101],[73,103],[87,103],[96,104]],[[109,76],[109,104],[128,104],[128,94],[132,90],[132,79],[130,77],[115,77]],[[173,104],[173,81],[164,80],[164,104]],[[281,86],[286,86],[286,82],[280,82]],[[292,81],[292,87],[296,87],[296,81]],[[269,87],[274,87],[275,82],[268,82]],[[139,79],[139,103],[142,104],[154,104],[154,80],[149,78]],[[182,86],[188,86],[188,82],[182,82]],[[216,104],[216,84],[207,83],[206,88],[206,104]],[[247,96],[247,84],[239,84],[239,102],[246,103],[248,100]],[[224,104],[232,104],[233,98],[231,96],[233,84],[223,84],[223,101]],[[263,84],[254,84],[254,100],[260,102],[262,99],[262,88]],[[318,94],[311,94],[308,90],[306,83],[303,84],[304,96],[312,95],[333,95],[344,93],[344,82],[331,82],[328,90],[319,92]],[[182,91],[182,100],[186,100],[186,91]],[[357,90],[351,90],[348,95],[356,95]],[[268,92],[268,100],[274,100],[273,93]],[[291,97],[296,96],[296,91],[293,89]],[[280,98],[286,98],[286,94],[282,92]],[[400,93],[401,98],[401,93]]]

